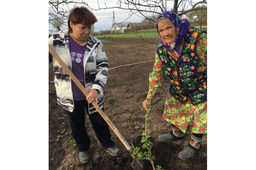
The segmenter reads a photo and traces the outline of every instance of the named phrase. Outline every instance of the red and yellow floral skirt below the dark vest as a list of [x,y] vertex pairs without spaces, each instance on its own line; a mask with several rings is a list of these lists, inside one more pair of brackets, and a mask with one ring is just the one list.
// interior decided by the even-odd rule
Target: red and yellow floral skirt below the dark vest
[[207,133],[207,101],[193,105],[188,99],[180,103],[168,93],[163,118],[184,133]]

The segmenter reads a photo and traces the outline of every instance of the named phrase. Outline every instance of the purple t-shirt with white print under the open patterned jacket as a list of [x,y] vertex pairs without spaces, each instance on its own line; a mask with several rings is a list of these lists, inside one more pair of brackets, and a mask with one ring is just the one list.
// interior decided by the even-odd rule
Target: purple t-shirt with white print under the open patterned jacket
[[[72,37],[69,35],[69,51],[72,61],[72,73],[77,77],[77,79],[85,87],[84,82],[84,53],[86,45],[77,44]],[[73,100],[84,100],[85,95],[78,88],[78,86],[71,80],[71,88],[73,92]]]

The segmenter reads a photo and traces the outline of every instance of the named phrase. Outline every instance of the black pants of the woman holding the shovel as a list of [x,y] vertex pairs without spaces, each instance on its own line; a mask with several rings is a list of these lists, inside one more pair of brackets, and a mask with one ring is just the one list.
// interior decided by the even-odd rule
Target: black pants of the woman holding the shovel
[[[69,112],[65,110],[67,118],[69,120],[73,137],[77,142],[77,147],[80,152],[84,152],[90,147],[90,137],[87,134],[85,128],[85,113],[84,108],[88,114],[88,102],[87,100],[74,101],[74,110]],[[98,140],[104,148],[113,147],[115,144],[111,140],[111,134],[109,131],[108,124],[100,116],[98,112],[88,114],[89,119],[92,123]]]

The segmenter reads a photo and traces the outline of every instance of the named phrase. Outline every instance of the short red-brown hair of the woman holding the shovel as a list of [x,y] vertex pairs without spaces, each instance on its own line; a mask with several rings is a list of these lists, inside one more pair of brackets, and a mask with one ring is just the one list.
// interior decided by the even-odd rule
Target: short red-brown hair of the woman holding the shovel
[[71,29],[70,22],[72,22],[73,24],[92,26],[95,22],[97,22],[97,18],[86,7],[81,6],[75,7],[69,13],[68,27],[69,32],[72,33],[73,31]]

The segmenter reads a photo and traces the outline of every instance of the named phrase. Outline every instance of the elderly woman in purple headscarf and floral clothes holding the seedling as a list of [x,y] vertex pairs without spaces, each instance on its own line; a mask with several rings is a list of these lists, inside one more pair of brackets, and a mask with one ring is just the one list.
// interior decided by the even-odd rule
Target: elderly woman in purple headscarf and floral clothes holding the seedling
[[161,39],[149,75],[151,88],[142,105],[150,111],[149,98],[161,87],[166,74],[170,88],[163,118],[171,123],[171,131],[159,135],[158,140],[183,141],[185,132],[192,133],[188,146],[178,154],[180,159],[189,160],[202,151],[203,134],[207,133],[207,33],[191,27],[172,11],[161,14],[156,23]]

